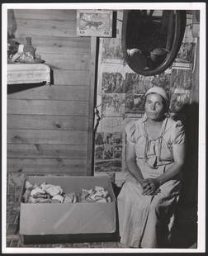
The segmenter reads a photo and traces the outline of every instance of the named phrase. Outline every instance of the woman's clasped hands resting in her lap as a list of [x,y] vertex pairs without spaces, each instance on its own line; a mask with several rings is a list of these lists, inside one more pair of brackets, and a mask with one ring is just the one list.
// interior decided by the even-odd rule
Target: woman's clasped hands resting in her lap
[[155,196],[160,192],[157,178],[146,178],[142,181],[143,195]]

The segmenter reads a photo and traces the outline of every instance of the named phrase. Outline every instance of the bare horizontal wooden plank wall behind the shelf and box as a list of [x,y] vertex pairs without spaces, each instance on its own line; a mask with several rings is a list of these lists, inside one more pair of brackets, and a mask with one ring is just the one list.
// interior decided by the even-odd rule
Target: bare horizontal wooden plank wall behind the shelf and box
[[7,172],[91,175],[91,39],[76,36],[76,10],[15,10],[15,17],[17,41],[31,36],[54,84],[7,95]]

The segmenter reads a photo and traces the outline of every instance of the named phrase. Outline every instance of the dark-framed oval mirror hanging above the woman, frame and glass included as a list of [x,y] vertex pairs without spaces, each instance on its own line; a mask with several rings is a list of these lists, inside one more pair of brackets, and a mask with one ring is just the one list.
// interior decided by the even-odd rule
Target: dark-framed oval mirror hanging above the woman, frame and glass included
[[121,41],[126,63],[144,76],[168,69],[182,44],[186,20],[186,11],[124,11]]

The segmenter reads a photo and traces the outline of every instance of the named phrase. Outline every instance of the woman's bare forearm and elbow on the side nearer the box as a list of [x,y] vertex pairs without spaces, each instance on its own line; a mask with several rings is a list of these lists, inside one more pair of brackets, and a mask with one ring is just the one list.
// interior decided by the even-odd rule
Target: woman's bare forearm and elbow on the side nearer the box
[[136,164],[136,155],[135,155],[135,145],[126,142],[126,159],[125,159],[127,168],[129,172],[138,180],[140,184],[143,183],[144,177]]

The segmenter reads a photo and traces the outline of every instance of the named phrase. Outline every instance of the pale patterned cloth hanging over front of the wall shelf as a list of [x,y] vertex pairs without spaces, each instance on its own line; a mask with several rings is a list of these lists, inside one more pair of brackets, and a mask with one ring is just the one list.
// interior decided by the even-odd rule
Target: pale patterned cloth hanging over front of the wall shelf
[[50,67],[46,64],[7,64],[7,84],[50,84]]

